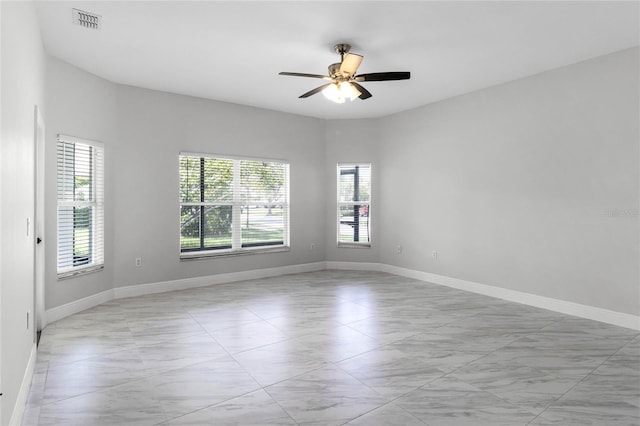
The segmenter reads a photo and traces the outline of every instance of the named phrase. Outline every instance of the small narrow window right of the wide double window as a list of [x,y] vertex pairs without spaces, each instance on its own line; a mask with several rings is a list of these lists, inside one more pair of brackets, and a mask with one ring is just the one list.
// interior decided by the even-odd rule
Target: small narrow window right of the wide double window
[[338,245],[369,247],[371,164],[338,164]]

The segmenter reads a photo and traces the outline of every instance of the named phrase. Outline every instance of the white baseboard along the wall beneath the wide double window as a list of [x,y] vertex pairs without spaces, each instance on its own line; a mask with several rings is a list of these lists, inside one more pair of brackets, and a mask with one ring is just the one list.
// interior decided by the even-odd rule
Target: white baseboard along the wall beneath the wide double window
[[185,290],[188,288],[206,287],[215,284],[232,283],[236,281],[255,280],[260,278],[277,277],[279,275],[298,274],[326,269],[325,262],[305,263],[302,265],[279,266],[276,268],[254,269],[250,271],[230,272],[227,274],[208,275],[205,277],[185,278],[158,283],[138,284],[113,289],[116,299],[143,296],[145,294],[164,293],[167,291]]

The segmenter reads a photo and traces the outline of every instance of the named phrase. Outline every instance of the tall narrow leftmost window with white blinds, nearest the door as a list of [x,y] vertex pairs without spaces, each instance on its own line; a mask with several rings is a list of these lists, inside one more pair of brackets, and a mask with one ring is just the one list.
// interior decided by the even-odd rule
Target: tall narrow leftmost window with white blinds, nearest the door
[[104,147],[58,135],[58,277],[104,267]]

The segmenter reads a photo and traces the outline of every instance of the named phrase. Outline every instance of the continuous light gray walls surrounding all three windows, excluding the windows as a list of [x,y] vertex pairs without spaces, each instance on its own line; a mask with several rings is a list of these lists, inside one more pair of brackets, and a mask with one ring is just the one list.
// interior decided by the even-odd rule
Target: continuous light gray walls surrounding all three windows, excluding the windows
[[[54,59],[49,68],[47,142],[59,132],[105,142],[109,207],[107,269],[59,282],[49,273],[48,309],[113,287],[336,260],[640,312],[638,49],[371,120],[120,86]],[[289,160],[291,251],[181,262],[183,150]],[[373,163],[369,249],[335,247],[335,165],[351,161]],[[606,214],[617,210],[631,214]]]

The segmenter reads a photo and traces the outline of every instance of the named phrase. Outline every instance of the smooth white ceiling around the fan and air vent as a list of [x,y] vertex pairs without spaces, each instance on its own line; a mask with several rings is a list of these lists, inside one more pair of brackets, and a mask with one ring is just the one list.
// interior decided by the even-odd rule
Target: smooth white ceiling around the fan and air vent
[[[98,31],[71,9],[102,16]],[[113,82],[321,118],[380,117],[636,46],[640,3],[614,1],[40,1],[46,51]],[[338,42],[371,99],[298,99]]]

